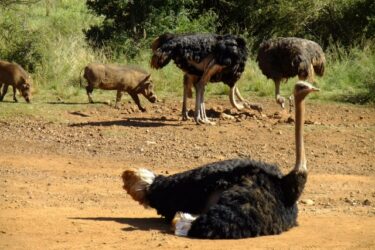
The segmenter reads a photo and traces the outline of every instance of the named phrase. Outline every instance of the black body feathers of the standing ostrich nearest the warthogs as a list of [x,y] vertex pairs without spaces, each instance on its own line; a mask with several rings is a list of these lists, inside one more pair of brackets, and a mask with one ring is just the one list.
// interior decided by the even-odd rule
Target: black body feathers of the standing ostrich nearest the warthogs
[[245,40],[233,35],[167,33],[153,42],[152,50],[152,67],[159,69],[174,60],[185,73],[196,76],[202,76],[203,71],[195,64],[212,57],[225,69],[213,75],[210,81],[222,81],[230,87],[241,77],[247,60]]

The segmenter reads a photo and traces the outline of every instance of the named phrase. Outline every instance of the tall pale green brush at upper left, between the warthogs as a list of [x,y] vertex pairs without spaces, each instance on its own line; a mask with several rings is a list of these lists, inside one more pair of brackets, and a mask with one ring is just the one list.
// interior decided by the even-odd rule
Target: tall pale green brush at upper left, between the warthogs
[[82,33],[96,18],[85,11],[84,3],[74,0],[55,2],[48,15],[46,4],[0,8],[0,58],[32,73],[34,92],[45,86],[64,96],[74,93],[67,90],[74,89],[72,83],[77,83],[84,65],[100,58],[86,45]]

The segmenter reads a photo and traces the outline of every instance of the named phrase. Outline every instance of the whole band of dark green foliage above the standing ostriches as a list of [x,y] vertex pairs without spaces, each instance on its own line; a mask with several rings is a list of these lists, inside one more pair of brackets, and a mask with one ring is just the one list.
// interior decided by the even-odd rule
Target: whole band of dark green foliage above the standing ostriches
[[[97,46],[113,42],[117,47],[126,39],[138,43],[167,31],[217,31],[246,36],[253,51],[264,39],[276,36],[305,37],[325,48],[335,43],[350,49],[375,34],[372,0],[88,0],[87,6],[105,18],[86,33]],[[189,25],[195,20],[199,22]]]

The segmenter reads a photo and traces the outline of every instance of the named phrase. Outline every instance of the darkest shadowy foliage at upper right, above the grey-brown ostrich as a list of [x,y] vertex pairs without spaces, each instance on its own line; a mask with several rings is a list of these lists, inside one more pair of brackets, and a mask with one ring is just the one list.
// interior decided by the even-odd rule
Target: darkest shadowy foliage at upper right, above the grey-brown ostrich
[[202,0],[218,17],[221,33],[242,33],[254,44],[276,36],[299,36],[350,48],[375,34],[372,0]]

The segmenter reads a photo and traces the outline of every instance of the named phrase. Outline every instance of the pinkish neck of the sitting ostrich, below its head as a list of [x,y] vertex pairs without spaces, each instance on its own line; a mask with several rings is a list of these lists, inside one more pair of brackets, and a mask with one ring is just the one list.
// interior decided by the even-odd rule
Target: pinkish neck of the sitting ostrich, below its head
[[296,137],[296,165],[294,170],[297,172],[307,172],[306,166],[306,155],[305,146],[303,140],[303,125],[305,123],[305,101],[302,98],[299,100],[295,98],[296,105],[296,126],[295,126],[295,137]]

